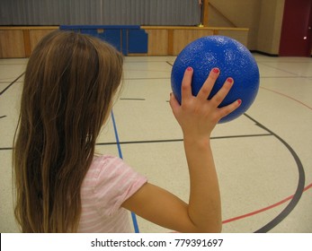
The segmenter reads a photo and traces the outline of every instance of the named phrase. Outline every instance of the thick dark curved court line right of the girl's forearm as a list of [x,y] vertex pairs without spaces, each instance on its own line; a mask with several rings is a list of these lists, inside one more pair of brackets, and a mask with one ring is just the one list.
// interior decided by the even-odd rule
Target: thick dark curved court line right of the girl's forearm
[[269,134],[272,134],[272,136],[276,137],[291,153],[292,157],[297,163],[297,168],[299,172],[299,180],[298,180],[298,186],[295,192],[295,195],[292,197],[290,203],[280,212],[279,215],[277,215],[272,221],[265,224],[261,229],[257,229],[254,231],[255,233],[266,233],[269,230],[276,227],[278,224],[281,223],[289,214],[294,210],[296,205],[299,203],[299,200],[301,198],[301,195],[304,192],[305,189],[305,182],[306,182],[306,175],[305,170],[302,166],[301,160],[299,159],[298,154],[296,151],[294,151],[290,144],[286,143],[278,134],[274,134],[270,129],[265,127],[264,125],[260,124],[258,121],[256,121],[253,117],[250,117],[245,114],[245,117],[248,117],[250,120],[254,121],[255,125],[261,127],[263,130],[268,132]]

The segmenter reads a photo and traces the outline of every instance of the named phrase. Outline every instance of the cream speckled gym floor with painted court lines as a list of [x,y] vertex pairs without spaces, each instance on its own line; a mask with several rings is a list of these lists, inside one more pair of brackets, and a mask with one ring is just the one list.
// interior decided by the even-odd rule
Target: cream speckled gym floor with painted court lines
[[[312,232],[312,59],[254,54],[261,82],[245,115],[217,125],[212,147],[223,232]],[[174,56],[126,57],[123,90],[98,139],[99,153],[183,200],[189,178],[182,132],[169,106]],[[13,219],[12,142],[27,59],[0,59],[0,232]],[[170,232],[134,217],[139,232]]]

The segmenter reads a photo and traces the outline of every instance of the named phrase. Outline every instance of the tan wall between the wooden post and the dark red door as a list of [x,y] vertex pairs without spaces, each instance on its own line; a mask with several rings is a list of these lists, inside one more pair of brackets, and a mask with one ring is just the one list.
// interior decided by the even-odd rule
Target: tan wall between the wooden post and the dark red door
[[278,55],[284,2],[285,0],[209,0],[215,6],[209,7],[209,26],[246,27],[249,29],[247,47],[250,50]]

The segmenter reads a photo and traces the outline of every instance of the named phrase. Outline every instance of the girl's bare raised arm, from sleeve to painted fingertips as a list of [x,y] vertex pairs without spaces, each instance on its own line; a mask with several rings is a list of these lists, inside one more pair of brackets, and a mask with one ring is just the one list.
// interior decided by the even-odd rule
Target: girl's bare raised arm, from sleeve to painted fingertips
[[197,97],[192,96],[191,67],[182,83],[182,104],[171,95],[170,106],[183,130],[185,155],[190,172],[190,199],[181,199],[164,189],[147,183],[122,206],[168,229],[179,232],[221,231],[221,204],[218,177],[210,148],[210,134],[218,120],[239,107],[241,100],[218,108],[234,81],[228,78],[218,93],[207,100],[219,74],[211,70]]

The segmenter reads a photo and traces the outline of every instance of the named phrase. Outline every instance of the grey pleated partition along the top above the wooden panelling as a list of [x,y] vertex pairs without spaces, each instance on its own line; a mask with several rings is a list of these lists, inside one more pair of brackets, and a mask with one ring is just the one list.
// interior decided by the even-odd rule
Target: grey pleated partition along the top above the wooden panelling
[[198,0],[0,0],[0,25],[197,25]]

